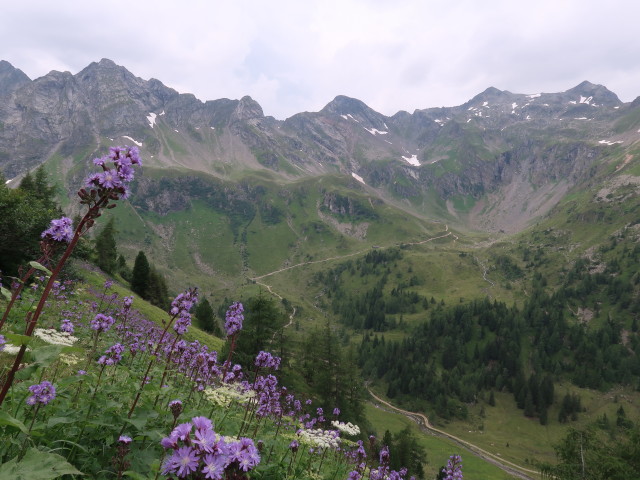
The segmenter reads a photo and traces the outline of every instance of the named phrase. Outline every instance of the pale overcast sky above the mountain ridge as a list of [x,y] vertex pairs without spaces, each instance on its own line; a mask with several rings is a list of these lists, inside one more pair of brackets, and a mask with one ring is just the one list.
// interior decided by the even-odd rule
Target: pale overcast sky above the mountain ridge
[[279,119],[336,95],[393,115],[583,80],[628,102],[639,21],[636,0],[19,0],[2,2],[0,60],[35,79],[110,58]]

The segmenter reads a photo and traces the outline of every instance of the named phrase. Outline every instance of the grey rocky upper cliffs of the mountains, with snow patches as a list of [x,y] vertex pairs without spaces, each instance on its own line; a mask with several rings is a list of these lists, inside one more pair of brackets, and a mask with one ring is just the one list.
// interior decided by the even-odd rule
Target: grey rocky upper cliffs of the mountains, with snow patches
[[[53,155],[86,157],[136,143],[146,165],[221,179],[251,171],[281,182],[348,176],[371,196],[404,202],[418,215],[433,214],[424,205],[435,192],[453,218],[476,228],[505,222],[490,218],[491,208],[461,211],[456,198],[493,202],[507,218],[520,212],[524,222],[516,223],[524,224],[616,149],[630,149],[638,119],[639,105],[583,82],[560,93],[491,87],[460,106],[391,117],[338,96],[320,112],[278,121],[250,97],[202,102],[107,59],[76,75],[50,72],[33,81],[0,62],[0,168],[7,178]],[[534,192],[544,198],[532,200]],[[155,205],[164,208],[161,199]]]

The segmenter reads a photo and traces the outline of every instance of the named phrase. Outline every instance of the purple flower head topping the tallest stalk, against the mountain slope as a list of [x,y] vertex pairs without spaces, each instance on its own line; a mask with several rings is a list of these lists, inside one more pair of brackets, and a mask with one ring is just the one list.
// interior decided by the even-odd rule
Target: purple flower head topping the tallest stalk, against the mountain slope
[[[107,162],[113,163],[113,168],[107,166]],[[111,147],[109,155],[96,158],[93,163],[102,168],[102,172],[93,173],[87,177],[85,184],[87,188],[96,191],[99,196],[109,194],[112,200],[126,198],[128,195],[127,185],[133,180],[133,166],[142,165],[140,151],[138,147]],[[91,196],[91,194],[88,194]],[[95,194],[94,194],[95,195]],[[83,200],[87,199],[87,194],[81,191]]]

